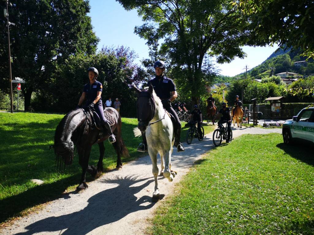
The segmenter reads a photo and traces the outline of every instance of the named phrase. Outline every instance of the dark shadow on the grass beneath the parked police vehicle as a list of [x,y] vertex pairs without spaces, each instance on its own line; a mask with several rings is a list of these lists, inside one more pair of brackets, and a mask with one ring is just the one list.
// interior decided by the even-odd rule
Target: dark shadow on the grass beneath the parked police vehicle
[[284,150],[286,154],[289,154],[295,159],[299,159],[302,162],[305,162],[308,165],[314,166],[313,158],[313,145],[306,142],[297,141],[293,145],[287,145],[284,143],[277,144],[276,146],[279,149]]

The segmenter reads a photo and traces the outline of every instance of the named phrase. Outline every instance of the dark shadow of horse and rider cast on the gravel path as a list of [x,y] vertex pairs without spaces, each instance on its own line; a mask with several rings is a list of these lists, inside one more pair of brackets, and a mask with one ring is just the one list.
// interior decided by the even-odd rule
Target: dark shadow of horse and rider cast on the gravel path
[[[125,178],[105,179],[105,183],[118,184],[118,186],[90,197],[87,201],[88,205],[78,212],[42,219],[27,226],[25,228],[28,230],[27,232],[18,234],[30,235],[38,232],[57,231],[61,233],[65,230],[62,234],[83,235],[97,227],[116,222],[130,213],[149,209],[154,206],[151,197],[142,196],[138,199],[135,196],[136,193],[154,181],[148,179],[137,179],[137,176],[134,175]],[[140,184],[142,181],[145,182]],[[143,203],[146,206],[141,205]]]

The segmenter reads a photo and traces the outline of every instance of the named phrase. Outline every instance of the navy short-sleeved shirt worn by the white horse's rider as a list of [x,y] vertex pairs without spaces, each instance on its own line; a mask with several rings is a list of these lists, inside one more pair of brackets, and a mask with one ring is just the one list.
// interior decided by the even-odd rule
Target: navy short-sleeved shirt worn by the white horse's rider
[[175,84],[166,76],[162,77],[160,80],[155,77],[148,81],[147,86],[150,84],[154,87],[156,95],[162,100],[170,99],[171,92],[176,91]]

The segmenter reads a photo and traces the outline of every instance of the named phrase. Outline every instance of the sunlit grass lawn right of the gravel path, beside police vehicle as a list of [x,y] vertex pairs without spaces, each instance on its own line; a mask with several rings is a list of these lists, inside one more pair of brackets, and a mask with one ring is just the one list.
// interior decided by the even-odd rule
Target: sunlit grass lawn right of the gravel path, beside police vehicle
[[244,135],[208,152],[155,212],[151,234],[314,234],[313,146]]

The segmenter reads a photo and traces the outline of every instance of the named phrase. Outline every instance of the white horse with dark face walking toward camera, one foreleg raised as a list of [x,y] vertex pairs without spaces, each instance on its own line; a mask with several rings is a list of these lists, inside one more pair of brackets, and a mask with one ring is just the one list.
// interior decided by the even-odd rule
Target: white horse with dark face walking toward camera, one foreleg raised
[[162,106],[161,100],[155,94],[153,87],[144,88],[143,91],[134,86],[138,93],[137,116],[138,128],[134,128],[134,135],[140,136],[146,131],[147,147],[153,164],[153,175],[155,178],[155,191],[153,198],[159,198],[159,186],[157,182],[158,166],[157,154],[161,159],[160,176],[164,175],[170,182],[176,176],[171,170],[171,154],[174,144],[174,130],[170,115]]

